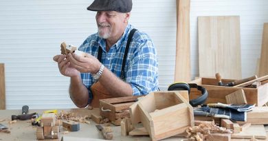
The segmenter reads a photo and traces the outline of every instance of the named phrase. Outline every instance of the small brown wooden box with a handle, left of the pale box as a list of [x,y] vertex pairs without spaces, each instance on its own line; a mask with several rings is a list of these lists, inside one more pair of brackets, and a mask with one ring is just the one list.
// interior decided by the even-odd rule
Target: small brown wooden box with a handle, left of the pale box
[[129,107],[140,96],[125,96],[100,100],[100,116],[108,118],[111,123],[120,125],[123,118],[130,118]]

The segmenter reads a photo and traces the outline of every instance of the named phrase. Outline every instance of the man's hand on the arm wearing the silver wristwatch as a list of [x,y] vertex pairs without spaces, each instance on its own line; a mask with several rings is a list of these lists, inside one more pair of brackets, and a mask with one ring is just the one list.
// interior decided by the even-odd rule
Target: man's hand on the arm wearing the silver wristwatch
[[78,56],[77,54],[68,54],[71,67],[74,67],[79,72],[97,73],[100,69],[100,61],[94,56],[87,54],[86,57]]

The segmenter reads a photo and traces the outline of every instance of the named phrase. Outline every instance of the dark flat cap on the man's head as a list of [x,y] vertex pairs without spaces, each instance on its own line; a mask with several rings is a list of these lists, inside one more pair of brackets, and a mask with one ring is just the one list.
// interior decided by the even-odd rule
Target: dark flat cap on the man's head
[[94,0],[87,10],[131,12],[132,0]]

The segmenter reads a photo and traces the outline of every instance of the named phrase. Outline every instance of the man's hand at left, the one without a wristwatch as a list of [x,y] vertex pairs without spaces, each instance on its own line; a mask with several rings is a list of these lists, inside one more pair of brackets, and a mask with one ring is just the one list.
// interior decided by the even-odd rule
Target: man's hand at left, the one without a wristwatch
[[60,74],[63,76],[80,76],[80,72],[74,67],[70,67],[70,62],[66,55],[56,55],[53,57],[53,60],[58,63],[58,69],[60,70]]

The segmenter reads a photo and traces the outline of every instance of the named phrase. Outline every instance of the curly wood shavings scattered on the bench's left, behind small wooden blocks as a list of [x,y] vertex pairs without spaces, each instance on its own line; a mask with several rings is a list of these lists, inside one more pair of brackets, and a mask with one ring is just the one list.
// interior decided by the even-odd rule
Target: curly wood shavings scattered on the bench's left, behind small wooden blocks
[[56,118],[58,120],[73,120],[76,122],[83,122],[83,123],[87,123],[89,124],[90,122],[87,120],[89,118],[89,116],[77,116],[75,113],[71,113],[71,112],[66,112],[66,111],[60,111],[60,113],[58,113],[56,115]]

